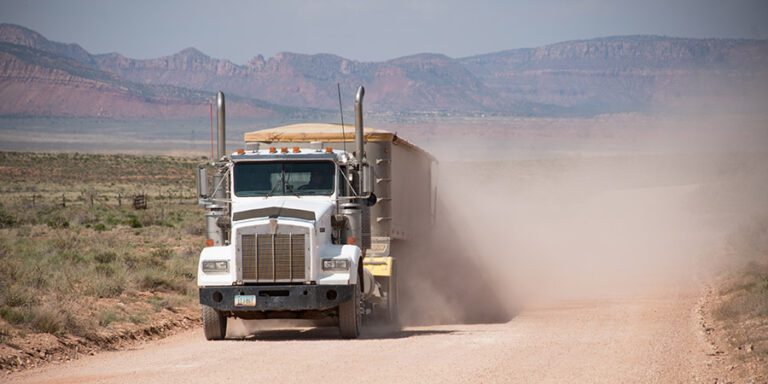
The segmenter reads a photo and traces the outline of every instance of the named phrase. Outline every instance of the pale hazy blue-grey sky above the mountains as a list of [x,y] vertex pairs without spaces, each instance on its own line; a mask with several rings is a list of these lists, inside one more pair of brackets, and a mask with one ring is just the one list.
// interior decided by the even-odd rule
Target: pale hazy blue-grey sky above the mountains
[[768,0],[0,0],[0,22],[134,58],[195,47],[238,64],[285,51],[378,61],[610,35],[765,39]]

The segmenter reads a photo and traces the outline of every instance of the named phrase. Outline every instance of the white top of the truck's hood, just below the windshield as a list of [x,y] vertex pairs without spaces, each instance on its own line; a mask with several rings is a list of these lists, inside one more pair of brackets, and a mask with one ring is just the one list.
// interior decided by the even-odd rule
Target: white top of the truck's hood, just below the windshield
[[264,199],[240,199],[233,205],[232,218],[234,222],[263,218],[269,216],[289,217],[294,219],[316,221],[329,214],[334,204],[327,199],[272,197]]

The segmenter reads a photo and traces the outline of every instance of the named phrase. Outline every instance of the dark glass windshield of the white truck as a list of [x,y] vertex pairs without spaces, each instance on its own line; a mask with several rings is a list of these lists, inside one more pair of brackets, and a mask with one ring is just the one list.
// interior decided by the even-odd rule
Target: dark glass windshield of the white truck
[[333,194],[336,165],[330,161],[259,161],[235,164],[235,196]]

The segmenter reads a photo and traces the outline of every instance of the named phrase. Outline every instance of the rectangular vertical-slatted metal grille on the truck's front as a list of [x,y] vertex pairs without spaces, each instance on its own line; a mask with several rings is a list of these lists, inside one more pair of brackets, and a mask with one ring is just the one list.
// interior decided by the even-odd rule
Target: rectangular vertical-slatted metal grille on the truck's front
[[243,280],[304,281],[305,234],[242,235]]

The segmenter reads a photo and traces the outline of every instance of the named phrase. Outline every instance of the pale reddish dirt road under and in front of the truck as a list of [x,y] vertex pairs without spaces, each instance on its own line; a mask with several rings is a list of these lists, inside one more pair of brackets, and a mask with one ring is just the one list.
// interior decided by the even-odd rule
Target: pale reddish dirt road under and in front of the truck
[[132,350],[5,377],[11,383],[675,383],[714,380],[698,292],[570,301],[504,324],[263,330],[206,342],[200,329]]

